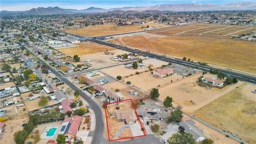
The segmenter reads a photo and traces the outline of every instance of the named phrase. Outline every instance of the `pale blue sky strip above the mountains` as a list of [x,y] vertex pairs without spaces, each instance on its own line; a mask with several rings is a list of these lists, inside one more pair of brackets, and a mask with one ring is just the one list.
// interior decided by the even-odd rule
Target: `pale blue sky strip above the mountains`
[[[249,2],[255,2],[255,0],[244,0]],[[112,1],[100,1],[100,0],[94,0],[94,1],[72,1],[72,0],[46,0],[46,1],[13,1],[13,0],[1,0],[0,1],[0,10],[7,10],[7,11],[25,11],[30,10],[32,8],[36,7],[48,7],[48,6],[59,6],[63,9],[87,9],[88,7],[94,6],[94,7],[101,7],[103,9],[111,9],[116,7],[126,7],[126,6],[150,6],[150,5],[159,5],[159,4],[182,4],[182,3],[212,3],[212,4],[227,4],[227,3],[233,3],[233,2],[244,2],[242,0],[213,0],[213,1],[205,1],[205,0],[194,0],[194,1],[178,1],[178,0],[165,0],[165,1],[156,1],[156,0],[112,0]]]

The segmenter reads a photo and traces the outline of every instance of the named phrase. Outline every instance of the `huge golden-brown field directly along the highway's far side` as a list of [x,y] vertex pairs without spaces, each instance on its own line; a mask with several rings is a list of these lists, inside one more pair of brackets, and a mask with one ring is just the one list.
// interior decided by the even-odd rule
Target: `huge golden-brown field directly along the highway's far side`
[[[195,36],[167,36],[146,38],[122,37],[118,44],[175,57],[254,73],[256,71],[255,42]],[[114,42],[114,41],[110,41]],[[227,57],[228,55],[228,57]]]

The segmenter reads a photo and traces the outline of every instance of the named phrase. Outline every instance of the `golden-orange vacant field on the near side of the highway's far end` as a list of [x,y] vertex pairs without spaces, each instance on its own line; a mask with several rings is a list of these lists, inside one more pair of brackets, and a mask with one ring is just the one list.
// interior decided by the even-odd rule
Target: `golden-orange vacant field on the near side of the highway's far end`
[[67,47],[63,49],[58,49],[58,51],[73,57],[75,54],[78,55],[85,55],[85,54],[91,54],[91,53],[98,53],[98,52],[105,52],[106,50],[112,51],[116,50],[112,47],[108,47],[105,45],[99,45],[92,42],[83,42],[83,43],[77,43],[77,46],[75,47]]

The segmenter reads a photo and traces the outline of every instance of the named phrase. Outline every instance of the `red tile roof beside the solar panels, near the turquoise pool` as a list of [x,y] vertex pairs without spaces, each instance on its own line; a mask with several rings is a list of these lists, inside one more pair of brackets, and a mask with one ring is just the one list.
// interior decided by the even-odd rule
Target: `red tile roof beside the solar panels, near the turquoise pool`
[[69,122],[70,127],[68,129],[68,132],[66,134],[71,134],[76,136],[76,133],[78,131],[78,127],[82,121],[82,116],[71,116],[71,117],[66,117],[64,119],[64,122]]

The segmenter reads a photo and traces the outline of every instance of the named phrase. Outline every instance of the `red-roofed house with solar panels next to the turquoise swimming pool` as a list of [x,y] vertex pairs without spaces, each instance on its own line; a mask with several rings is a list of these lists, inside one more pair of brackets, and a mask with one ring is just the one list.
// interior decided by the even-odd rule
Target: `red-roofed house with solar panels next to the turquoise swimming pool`
[[76,137],[79,126],[82,122],[82,116],[66,117],[61,124],[58,134],[65,134],[68,139]]

